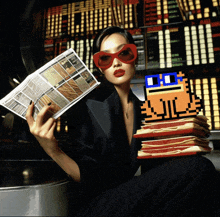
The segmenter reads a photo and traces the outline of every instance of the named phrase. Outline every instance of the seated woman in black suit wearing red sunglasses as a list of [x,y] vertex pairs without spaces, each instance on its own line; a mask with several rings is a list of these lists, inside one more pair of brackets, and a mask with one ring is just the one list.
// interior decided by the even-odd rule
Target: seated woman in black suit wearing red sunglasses
[[[130,90],[136,48],[129,33],[104,29],[94,41],[94,62],[108,85],[94,90],[66,115],[69,140],[62,150],[54,136],[56,122],[45,106],[30,131],[46,153],[75,181],[84,205],[77,216],[210,216],[218,174],[203,157],[169,159],[134,177],[140,141],[140,102]],[[105,83],[105,82],[103,82]],[[148,163],[148,161],[146,162]],[[216,192],[216,195],[217,192]],[[213,211],[214,213],[214,211]],[[202,215],[200,215],[202,216]]]

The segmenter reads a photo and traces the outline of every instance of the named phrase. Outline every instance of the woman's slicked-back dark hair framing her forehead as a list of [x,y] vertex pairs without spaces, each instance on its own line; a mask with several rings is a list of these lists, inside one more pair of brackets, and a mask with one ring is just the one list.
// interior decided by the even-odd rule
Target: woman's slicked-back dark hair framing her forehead
[[127,32],[126,30],[124,30],[118,26],[109,26],[109,27],[101,30],[101,32],[99,32],[96,35],[94,42],[93,42],[93,54],[100,51],[100,47],[101,47],[101,43],[102,43],[103,39],[106,36],[110,36],[114,33],[119,33],[119,34],[123,35],[125,37],[125,39],[127,39],[130,44],[134,44],[134,39],[129,32]]

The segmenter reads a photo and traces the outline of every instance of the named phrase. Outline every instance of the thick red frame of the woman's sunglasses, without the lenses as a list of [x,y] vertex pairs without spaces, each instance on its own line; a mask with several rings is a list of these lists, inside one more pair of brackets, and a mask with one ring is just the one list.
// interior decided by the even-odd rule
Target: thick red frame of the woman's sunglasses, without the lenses
[[[133,55],[134,55],[134,58],[132,58],[132,59],[129,60],[129,61],[124,61],[124,60],[118,58],[118,55],[119,55],[122,51],[126,50],[126,48],[128,48],[128,47],[131,49],[131,51],[132,51],[132,53],[133,53]],[[100,57],[101,55],[103,55],[103,54],[105,54],[105,55],[107,55],[107,56],[111,56],[111,58],[112,58],[111,61],[109,62],[109,64],[106,65],[106,66],[100,66],[100,65],[99,65],[99,57]],[[134,61],[136,60],[136,58],[137,58],[137,47],[136,47],[136,45],[135,45],[135,44],[125,44],[125,45],[122,47],[122,49],[119,50],[119,51],[116,52],[116,53],[107,53],[107,52],[104,52],[104,51],[99,51],[99,52],[97,52],[97,53],[95,53],[95,54],[93,55],[93,60],[94,60],[95,65],[96,65],[98,68],[101,68],[101,69],[107,69],[107,68],[109,68],[109,67],[112,65],[112,63],[113,63],[113,61],[114,61],[115,58],[117,58],[117,59],[120,60],[121,62],[127,63],[127,64],[134,62]]]

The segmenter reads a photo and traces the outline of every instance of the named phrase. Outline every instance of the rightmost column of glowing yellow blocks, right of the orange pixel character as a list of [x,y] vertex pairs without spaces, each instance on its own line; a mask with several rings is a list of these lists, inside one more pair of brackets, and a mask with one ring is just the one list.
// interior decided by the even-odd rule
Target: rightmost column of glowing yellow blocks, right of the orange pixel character
[[218,90],[217,90],[216,78],[211,78],[211,91],[212,91],[212,105],[213,105],[213,114],[214,114],[214,128],[220,129]]

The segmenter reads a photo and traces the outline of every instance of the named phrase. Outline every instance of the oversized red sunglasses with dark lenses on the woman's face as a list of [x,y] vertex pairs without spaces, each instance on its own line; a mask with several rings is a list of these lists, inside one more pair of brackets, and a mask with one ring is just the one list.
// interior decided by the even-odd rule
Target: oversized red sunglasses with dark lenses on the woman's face
[[137,58],[137,48],[134,44],[126,44],[116,53],[100,51],[93,55],[93,60],[98,68],[109,68],[113,60],[117,58],[123,63],[132,63]]

